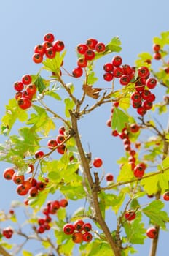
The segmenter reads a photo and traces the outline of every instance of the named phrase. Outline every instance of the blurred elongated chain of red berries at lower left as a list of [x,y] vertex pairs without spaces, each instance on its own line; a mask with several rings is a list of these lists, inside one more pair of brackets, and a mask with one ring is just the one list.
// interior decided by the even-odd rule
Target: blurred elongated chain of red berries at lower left
[[57,214],[60,207],[65,208],[66,206],[68,206],[68,200],[66,198],[48,202],[47,206],[42,210],[45,218],[38,219],[39,227],[36,229],[36,232],[44,233],[45,230],[50,230],[50,222],[52,222],[50,214]]

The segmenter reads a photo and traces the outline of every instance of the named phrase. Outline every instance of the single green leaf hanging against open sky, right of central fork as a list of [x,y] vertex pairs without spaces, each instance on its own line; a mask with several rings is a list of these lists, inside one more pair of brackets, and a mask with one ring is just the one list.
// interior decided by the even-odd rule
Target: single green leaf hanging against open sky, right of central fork
[[111,119],[111,128],[117,130],[117,132],[122,132],[122,129],[128,123],[128,116],[119,108],[114,108]]

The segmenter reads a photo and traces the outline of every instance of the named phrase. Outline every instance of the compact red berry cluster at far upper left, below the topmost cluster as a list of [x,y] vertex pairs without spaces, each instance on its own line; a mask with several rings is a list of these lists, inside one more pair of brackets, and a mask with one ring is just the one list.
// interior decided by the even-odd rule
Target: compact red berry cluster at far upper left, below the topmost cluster
[[23,110],[31,107],[31,101],[36,94],[36,85],[31,82],[31,75],[23,75],[21,81],[16,81],[13,85],[17,91],[15,99],[19,107]]

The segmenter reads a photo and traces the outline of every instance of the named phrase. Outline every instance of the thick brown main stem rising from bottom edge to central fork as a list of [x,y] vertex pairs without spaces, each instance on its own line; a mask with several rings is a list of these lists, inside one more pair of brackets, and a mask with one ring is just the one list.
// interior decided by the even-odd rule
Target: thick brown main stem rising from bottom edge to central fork
[[76,116],[71,111],[70,111],[70,115],[71,115],[72,129],[74,130],[74,139],[76,141],[76,146],[79,151],[79,157],[81,159],[82,167],[84,169],[85,176],[87,177],[87,181],[90,185],[90,191],[91,191],[91,194],[93,197],[95,220],[101,226],[101,229],[103,230],[103,233],[106,236],[106,240],[109,243],[109,245],[111,246],[112,251],[114,252],[114,256],[121,256],[121,248],[119,248],[117,246],[114,239],[112,238],[109,227],[106,225],[106,222],[104,221],[103,216],[101,214],[101,208],[99,206],[99,201],[98,201],[98,192],[99,192],[98,178],[97,178],[97,175],[95,174],[95,182],[93,182],[93,177],[91,176],[91,173],[90,173],[90,163],[84,153],[84,149],[82,147],[82,143],[79,138],[79,130],[77,127]]

